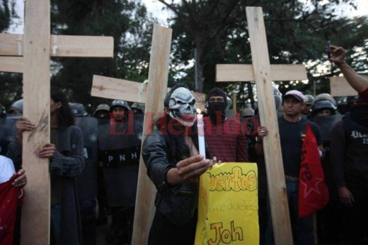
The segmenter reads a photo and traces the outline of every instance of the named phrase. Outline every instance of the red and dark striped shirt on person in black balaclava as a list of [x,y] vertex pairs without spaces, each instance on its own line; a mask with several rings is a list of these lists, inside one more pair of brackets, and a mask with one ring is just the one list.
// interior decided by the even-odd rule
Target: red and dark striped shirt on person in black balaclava
[[211,155],[222,162],[248,162],[247,138],[238,120],[227,118],[219,125],[204,118],[205,141]]

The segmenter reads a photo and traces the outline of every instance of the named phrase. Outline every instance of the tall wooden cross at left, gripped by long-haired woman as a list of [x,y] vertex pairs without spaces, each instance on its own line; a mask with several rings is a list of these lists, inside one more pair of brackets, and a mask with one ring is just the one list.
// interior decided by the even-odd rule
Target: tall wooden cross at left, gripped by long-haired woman
[[50,242],[49,159],[34,152],[50,142],[50,56],[113,57],[112,37],[50,35],[50,1],[25,2],[24,35],[0,35],[0,71],[23,73],[24,116],[35,129],[23,134],[28,184],[22,205],[21,244]]

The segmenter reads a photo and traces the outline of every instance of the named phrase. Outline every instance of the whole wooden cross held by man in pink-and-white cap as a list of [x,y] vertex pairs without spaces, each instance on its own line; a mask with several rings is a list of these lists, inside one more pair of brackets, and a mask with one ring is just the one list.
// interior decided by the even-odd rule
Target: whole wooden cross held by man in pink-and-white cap
[[217,65],[216,82],[255,81],[261,125],[269,130],[263,138],[268,193],[275,244],[292,245],[289,206],[280,147],[279,127],[272,81],[307,79],[304,65],[270,65],[261,7],[247,7],[253,65]]

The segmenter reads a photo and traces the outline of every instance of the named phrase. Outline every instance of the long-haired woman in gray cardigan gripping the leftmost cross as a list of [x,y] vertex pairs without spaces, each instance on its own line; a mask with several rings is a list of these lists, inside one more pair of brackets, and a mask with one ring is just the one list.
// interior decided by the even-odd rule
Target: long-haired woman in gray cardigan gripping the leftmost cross
[[[14,162],[22,158],[22,133],[35,125],[26,118],[17,122],[17,140],[9,145],[7,156]],[[60,89],[51,89],[50,142],[35,152],[49,158],[51,179],[51,244],[81,245],[81,219],[75,177],[84,168],[82,131],[74,126],[70,107]],[[36,215],[36,214],[35,214]]]

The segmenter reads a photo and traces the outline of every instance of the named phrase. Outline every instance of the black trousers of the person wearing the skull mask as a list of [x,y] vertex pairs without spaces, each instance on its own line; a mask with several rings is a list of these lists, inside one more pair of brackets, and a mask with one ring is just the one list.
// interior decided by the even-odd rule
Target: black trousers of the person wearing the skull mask
[[197,226],[197,210],[189,223],[177,226],[156,209],[148,245],[191,245],[194,244]]

